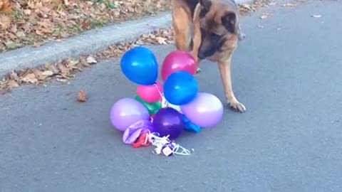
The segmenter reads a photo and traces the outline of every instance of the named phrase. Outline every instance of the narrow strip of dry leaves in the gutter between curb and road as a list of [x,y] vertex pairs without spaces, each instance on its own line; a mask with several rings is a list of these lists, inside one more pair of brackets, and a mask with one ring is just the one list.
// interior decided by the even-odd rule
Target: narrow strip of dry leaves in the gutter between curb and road
[[133,42],[118,43],[110,46],[95,55],[81,56],[79,59],[68,59],[63,62],[45,65],[41,68],[14,71],[0,82],[0,90],[12,90],[19,85],[34,84],[40,85],[48,80],[56,79],[58,82],[66,83],[73,76],[98,63],[98,60],[106,58],[118,58],[130,48],[142,45],[162,45],[172,43],[172,31],[170,29],[160,29],[147,35],[142,35]]

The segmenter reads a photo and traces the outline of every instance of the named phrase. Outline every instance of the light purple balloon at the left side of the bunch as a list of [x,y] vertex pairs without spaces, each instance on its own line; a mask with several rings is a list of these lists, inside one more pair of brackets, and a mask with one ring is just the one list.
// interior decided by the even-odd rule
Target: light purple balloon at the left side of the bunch
[[110,121],[116,129],[123,132],[131,124],[149,118],[147,108],[132,98],[118,100],[110,110]]

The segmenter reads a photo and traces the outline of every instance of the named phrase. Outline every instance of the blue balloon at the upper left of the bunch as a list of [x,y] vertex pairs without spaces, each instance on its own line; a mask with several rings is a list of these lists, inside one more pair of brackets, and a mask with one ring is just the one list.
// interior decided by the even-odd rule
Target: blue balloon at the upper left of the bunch
[[138,85],[153,85],[157,81],[157,59],[148,48],[128,50],[120,60],[120,67],[125,77]]

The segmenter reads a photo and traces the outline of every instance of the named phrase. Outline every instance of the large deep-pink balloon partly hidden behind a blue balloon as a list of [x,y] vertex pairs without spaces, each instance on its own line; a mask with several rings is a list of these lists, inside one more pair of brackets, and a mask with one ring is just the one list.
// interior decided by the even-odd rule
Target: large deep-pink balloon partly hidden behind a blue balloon
[[197,64],[195,58],[183,50],[174,50],[167,55],[162,63],[162,80],[166,80],[171,73],[179,70],[185,70],[195,75]]

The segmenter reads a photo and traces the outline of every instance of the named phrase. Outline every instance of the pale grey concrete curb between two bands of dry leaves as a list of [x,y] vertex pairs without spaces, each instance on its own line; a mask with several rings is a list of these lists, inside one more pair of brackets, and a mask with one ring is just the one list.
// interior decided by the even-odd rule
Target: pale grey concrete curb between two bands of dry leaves
[[[236,0],[237,4],[251,2],[253,0]],[[0,53],[0,77],[12,70],[37,68],[60,60],[97,53],[116,43],[133,41],[142,34],[151,33],[160,28],[169,28],[171,27],[171,21],[170,12],[164,12],[157,16],[115,23],[103,28],[86,31],[62,42],[48,42],[38,48],[26,46]]]

